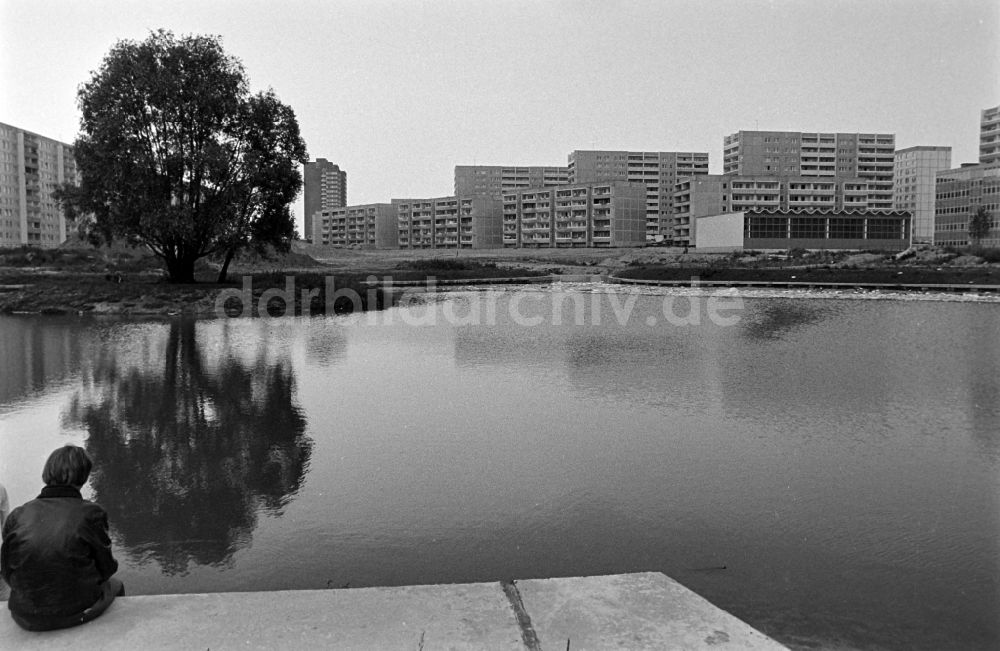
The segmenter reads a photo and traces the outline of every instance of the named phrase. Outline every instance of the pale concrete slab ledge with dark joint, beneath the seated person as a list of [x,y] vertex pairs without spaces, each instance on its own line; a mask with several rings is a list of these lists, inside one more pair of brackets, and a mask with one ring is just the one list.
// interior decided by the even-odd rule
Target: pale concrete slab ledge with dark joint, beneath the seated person
[[510,583],[120,597],[0,649],[783,649],[658,572]]

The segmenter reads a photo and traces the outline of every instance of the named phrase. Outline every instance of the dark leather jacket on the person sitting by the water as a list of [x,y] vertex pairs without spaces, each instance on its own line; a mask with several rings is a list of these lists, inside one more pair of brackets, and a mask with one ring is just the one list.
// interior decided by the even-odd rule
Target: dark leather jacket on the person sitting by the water
[[80,613],[117,569],[107,513],[72,486],[46,486],[4,523],[0,571],[20,616]]

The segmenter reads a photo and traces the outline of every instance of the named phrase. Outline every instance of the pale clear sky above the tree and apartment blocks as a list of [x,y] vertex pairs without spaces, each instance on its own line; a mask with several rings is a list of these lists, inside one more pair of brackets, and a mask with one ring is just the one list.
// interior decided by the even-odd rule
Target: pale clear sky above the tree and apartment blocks
[[[740,129],[877,131],[975,161],[1000,103],[997,0],[0,0],[0,122],[72,142],[119,39],[217,34],[294,108],[349,204],[454,190],[455,165],[707,151]],[[301,197],[296,206],[301,228]]]

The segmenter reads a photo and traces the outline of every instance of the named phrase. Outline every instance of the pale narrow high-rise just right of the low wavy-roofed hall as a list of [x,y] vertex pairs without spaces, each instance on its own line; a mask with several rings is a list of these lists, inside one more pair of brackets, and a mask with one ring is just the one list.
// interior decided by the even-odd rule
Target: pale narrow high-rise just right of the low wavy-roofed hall
[[951,147],[907,147],[896,152],[892,205],[913,216],[913,241],[934,241],[937,173],[951,167]]

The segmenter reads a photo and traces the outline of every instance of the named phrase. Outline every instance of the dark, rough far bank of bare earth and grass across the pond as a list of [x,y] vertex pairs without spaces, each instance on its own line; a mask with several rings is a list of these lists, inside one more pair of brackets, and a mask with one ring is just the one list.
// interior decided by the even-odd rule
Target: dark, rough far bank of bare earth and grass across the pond
[[[301,247],[305,248],[305,247]],[[314,254],[315,254],[314,248]],[[905,259],[892,254],[790,251],[780,255],[745,252],[706,255],[645,248],[617,250],[503,250],[379,252],[326,250],[317,260],[304,253],[272,259],[243,258],[228,282],[217,282],[217,266],[202,264],[194,284],[166,281],[148,253],[63,247],[0,250],[0,313],[217,316],[220,292],[239,295],[225,304],[251,313],[268,290],[293,291],[294,314],[381,309],[391,303],[373,288],[382,282],[490,279],[554,274],[610,274],[637,280],[698,278],[704,281],[881,283],[886,285],[1000,285],[995,250],[959,251],[925,247]],[[407,254],[411,255],[407,255]],[[319,255],[317,255],[319,257]],[[336,296],[330,296],[330,291]],[[246,293],[248,292],[248,294]],[[353,292],[353,294],[352,294]],[[269,295],[275,294],[271,291]],[[308,302],[303,305],[303,296]],[[372,304],[374,302],[374,304]],[[271,313],[283,301],[272,298]],[[291,314],[290,310],[285,313]]]

